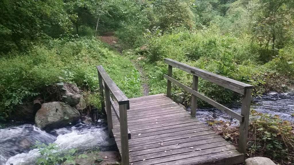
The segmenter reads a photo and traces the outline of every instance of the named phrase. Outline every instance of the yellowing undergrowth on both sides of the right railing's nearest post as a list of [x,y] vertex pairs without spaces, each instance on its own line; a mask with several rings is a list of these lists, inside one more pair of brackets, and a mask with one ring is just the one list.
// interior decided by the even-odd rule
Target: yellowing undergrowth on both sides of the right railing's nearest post
[[[251,111],[252,118],[248,128],[247,156],[269,157],[279,164],[294,163],[294,125],[279,118],[278,115]],[[227,123],[213,126],[225,139],[238,144],[239,127]]]

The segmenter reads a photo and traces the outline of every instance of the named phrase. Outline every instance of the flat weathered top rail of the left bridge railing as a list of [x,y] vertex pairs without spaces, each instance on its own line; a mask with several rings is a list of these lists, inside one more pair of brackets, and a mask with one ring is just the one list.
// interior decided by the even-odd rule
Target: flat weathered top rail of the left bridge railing
[[98,72],[101,75],[101,78],[104,80],[104,85],[106,85],[111,93],[113,94],[114,98],[118,102],[119,105],[127,104],[127,108],[129,108],[129,99],[126,97],[125,94],[117,87],[117,85],[111,80],[109,75],[106,73],[102,65],[96,66]]

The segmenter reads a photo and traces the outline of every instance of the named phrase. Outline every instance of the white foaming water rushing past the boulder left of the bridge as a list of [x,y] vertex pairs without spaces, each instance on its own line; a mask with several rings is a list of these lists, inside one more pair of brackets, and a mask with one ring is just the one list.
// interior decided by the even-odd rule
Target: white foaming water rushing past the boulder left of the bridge
[[109,139],[105,122],[98,120],[97,125],[78,122],[71,127],[45,132],[32,124],[23,124],[0,129],[0,165],[34,164],[40,156],[38,149],[32,148],[36,142],[56,143],[59,149],[100,149],[114,151],[115,142]]

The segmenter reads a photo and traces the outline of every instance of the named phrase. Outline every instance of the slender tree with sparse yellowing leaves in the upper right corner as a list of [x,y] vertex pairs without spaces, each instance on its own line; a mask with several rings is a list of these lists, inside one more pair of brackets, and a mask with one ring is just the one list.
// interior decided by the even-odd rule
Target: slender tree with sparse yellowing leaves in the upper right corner
[[270,60],[283,48],[293,33],[294,1],[293,0],[257,0],[253,5],[256,21],[253,24],[253,32],[260,42],[260,47],[268,55],[265,60]]

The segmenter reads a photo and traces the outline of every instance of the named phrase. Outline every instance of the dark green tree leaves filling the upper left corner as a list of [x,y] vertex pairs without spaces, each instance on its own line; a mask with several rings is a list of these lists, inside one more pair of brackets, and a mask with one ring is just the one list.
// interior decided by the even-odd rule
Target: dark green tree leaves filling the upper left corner
[[56,36],[69,31],[71,21],[62,0],[0,2],[0,53],[25,48],[44,34]]

